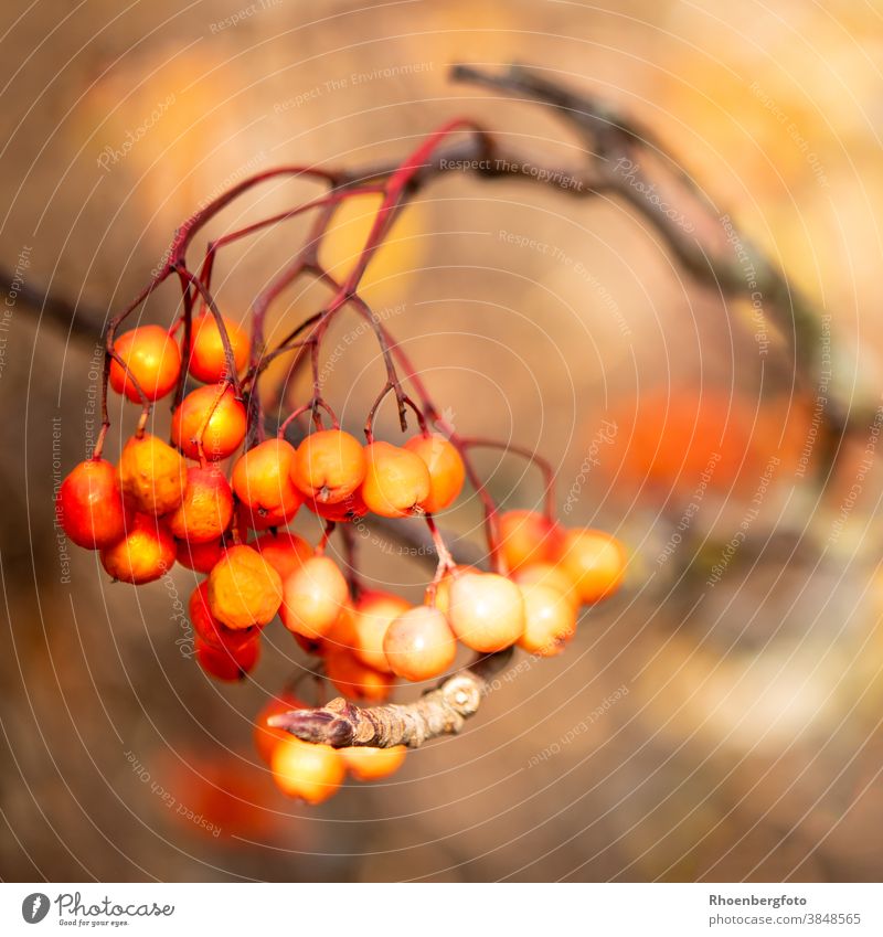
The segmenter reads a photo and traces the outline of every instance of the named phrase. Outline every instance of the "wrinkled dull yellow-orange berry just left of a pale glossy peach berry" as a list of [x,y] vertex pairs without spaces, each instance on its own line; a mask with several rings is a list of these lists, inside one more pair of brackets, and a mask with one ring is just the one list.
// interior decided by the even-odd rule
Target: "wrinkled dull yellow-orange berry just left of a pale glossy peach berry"
[[231,546],[209,574],[209,608],[227,628],[268,624],[281,595],[279,574],[251,546]]

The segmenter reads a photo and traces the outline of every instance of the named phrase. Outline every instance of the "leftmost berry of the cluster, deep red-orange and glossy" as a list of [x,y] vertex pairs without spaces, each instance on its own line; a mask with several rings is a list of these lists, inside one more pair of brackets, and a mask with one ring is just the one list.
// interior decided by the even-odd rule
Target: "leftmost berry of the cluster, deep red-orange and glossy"
[[123,540],[127,513],[114,466],[106,459],[74,466],[58,488],[55,513],[77,546],[103,550]]

